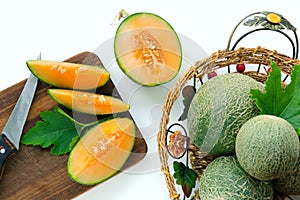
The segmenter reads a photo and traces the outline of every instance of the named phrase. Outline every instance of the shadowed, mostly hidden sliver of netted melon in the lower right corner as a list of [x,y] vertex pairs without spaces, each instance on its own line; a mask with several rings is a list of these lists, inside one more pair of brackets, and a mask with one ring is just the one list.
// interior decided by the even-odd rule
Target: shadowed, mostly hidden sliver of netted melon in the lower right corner
[[274,181],[274,187],[286,195],[300,195],[300,156],[290,172]]

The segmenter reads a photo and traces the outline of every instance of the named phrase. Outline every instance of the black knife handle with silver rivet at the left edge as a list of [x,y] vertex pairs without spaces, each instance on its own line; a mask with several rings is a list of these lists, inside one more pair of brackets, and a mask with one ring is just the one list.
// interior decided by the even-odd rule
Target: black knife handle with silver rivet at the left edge
[[0,179],[3,176],[6,161],[17,152],[5,135],[0,134]]

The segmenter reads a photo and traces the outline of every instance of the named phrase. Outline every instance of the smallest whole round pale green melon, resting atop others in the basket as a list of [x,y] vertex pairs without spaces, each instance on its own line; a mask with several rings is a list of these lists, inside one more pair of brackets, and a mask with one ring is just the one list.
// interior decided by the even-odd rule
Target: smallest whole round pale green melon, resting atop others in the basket
[[259,115],[247,121],[236,138],[241,166],[259,180],[273,180],[291,171],[299,157],[299,138],[286,120]]

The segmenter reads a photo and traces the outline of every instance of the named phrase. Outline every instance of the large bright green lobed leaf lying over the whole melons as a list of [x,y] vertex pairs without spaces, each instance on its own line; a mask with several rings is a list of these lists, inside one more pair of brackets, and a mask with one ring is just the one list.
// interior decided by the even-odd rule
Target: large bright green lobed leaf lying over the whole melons
[[251,90],[260,114],[275,115],[287,120],[300,135],[300,65],[294,66],[291,82],[283,90],[281,71],[275,62],[271,62],[265,90]]

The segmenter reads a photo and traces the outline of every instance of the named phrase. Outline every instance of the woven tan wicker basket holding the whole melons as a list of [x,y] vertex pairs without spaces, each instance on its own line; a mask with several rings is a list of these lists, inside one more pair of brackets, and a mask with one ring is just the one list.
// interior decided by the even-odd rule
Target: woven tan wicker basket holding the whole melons
[[[261,12],[259,12],[259,14],[261,14]],[[249,16],[252,15],[248,15],[247,17]],[[230,42],[228,44],[230,44]],[[197,61],[194,66],[191,66],[185,71],[185,73],[178,79],[176,85],[172,89],[170,89],[169,93],[167,94],[165,103],[163,105],[163,113],[160,121],[157,140],[159,156],[161,160],[161,171],[163,172],[165,177],[166,185],[169,191],[169,198],[172,200],[179,200],[180,192],[176,190],[177,187],[169,168],[170,155],[167,148],[167,136],[168,126],[170,125],[169,123],[173,123],[170,122],[169,115],[171,113],[173,104],[179,98],[182,89],[188,84],[188,82],[194,79],[194,81],[201,86],[201,84],[203,83],[203,78],[208,73],[212,71],[218,71],[220,69],[224,71],[224,69],[226,68],[227,70],[225,71],[227,73],[234,73],[236,71],[233,70],[234,68],[232,66],[239,63],[244,63],[246,66],[255,65],[257,67],[255,68],[255,70],[253,70],[253,68],[251,67],[248,69],[247,67],[248,71],[246,69],[243,74],[252,77],[258,82],[264,83],[267,80],[267,72],[264,70],[264,67],[268,67],[270,65],[270,61],[272,60],[277,63],[278,67],[281,69],[282,74],[286,75],[283,79],[283,84],[285,84],[285,81],[287,80],[286,78],[291,74],[293,66],[295,64],[300,64],[300,60],[295,59],[298,54],[298,50],[294,51],[293,58],[291,58],[277,52],[276,50],[269,50],[260,46],[256,48],[234,48],[229,49],[228,46],[227,49],[219,50],[211,54],[206,59]],[[187,152],[188,154],[186,155],[189,158],[189,164],[191,164],[192,168],[197,172],[200,178],[203,169],[205,169],[205,167],[214,159],[214,157],[205,156],[193,144],[189,144]],[[196,197],[194,196],[192,199],[200,198],[196,195]]]

